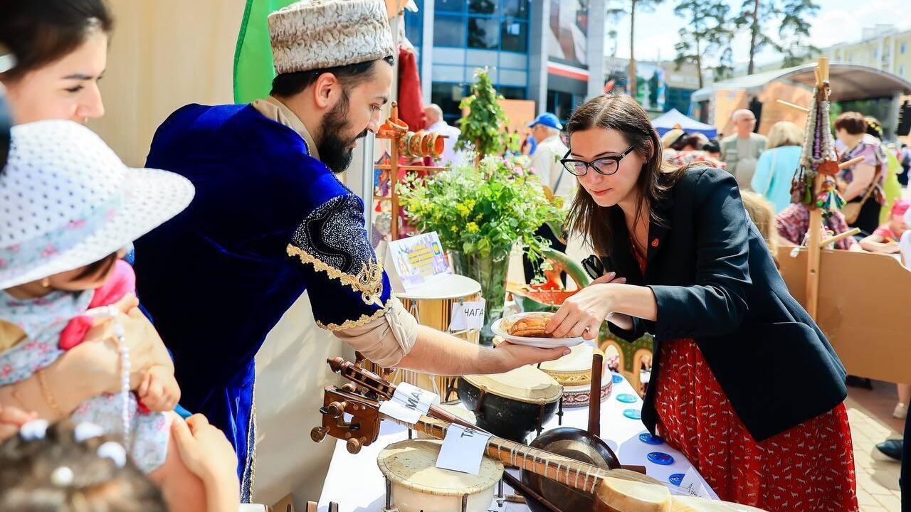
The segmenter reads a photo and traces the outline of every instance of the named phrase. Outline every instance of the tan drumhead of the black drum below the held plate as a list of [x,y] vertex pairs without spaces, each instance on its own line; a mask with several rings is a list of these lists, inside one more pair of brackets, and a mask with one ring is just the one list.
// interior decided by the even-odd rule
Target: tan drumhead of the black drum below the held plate
[[550,404],[563,394],[563,386],[534,366],[520,366],[506,374],[465,375],[462,378],[486,393],[527,404]]

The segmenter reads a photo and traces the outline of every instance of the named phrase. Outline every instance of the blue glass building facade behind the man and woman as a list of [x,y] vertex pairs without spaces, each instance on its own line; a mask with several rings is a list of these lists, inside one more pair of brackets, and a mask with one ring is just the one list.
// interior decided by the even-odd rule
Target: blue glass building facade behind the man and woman
[[[405,36],[415,46],[425,103],[461,117],[477,68],[509,99],[567,119],[604,87],[604,0],[415,0]],[[593,35],[589,37],[589,34]]]

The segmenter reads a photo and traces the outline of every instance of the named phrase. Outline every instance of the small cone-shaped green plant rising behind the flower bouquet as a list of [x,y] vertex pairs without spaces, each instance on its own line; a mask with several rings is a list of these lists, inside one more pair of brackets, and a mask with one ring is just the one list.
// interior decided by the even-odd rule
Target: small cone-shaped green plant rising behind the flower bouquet
[[502,96],[487,75],[487,70],[478,69],[475,85],[471,87],[471,96],[459,104],[459,108],[468,109],[468,115],[462,118],[461,134],[455,143],[456,149],[474,148],[479,159],[486,155],[500,155],[504,148],[503,127],[508,119],[499,102]]

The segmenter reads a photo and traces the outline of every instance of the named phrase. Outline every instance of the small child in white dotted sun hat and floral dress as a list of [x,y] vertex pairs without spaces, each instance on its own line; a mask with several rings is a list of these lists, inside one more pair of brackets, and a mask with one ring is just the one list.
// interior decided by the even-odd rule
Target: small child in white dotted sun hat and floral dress
[[[115,316],[109,305],[135,283],[119,260],[122,248],[186,208],[187,179],[158,169],[128,169],[88,128],[63,120],[13,128],[0,175],[0,319],[24,334],[0,347],[0,384],[37,375],[58,417],[42,373],[81,343],[87,315]],[[179,387],[163,343],[138,385],[130,382],[126,332],[113,323],[120,347],[119,394],[100,394],[69,415],[123,435],[132,460],[162,486],[171,510],[200,510],[199,479],[169,442]],[[136,391],[136,393],[131,393]],[[29,404],[18,404],[28,409]],[[239,494],[234,480],[234,503]],[[224,503],[221,504],[225,505]]]

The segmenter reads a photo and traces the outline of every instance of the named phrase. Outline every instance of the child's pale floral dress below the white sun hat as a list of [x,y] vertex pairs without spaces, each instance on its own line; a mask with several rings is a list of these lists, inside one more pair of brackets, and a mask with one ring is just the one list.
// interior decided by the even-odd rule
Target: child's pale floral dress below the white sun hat
[[[0,318],[26,333],[26,339],[0,353],[0,386],[23,381],[63,355],[60,334],[70,319],[87,312],[92,294],[51,292],[39,299],[20,300],[0,291]],[[148,473],[165,461],[169,425],[164,414],[140,412],[136,395],[129,397],[129,452],[133,462]],[[122,404],[118,394],[101,394],[79,404],[70,419],[99,425],[107,435],[123,435]]]

